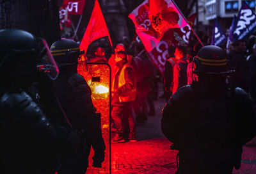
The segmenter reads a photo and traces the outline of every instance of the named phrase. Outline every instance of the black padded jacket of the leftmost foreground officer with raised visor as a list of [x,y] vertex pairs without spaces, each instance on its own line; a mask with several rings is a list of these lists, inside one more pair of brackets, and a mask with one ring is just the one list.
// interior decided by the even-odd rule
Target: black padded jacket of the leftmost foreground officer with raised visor
[[56,129],[29,95],[1,89],[0,173],[45,173],[56,168]]

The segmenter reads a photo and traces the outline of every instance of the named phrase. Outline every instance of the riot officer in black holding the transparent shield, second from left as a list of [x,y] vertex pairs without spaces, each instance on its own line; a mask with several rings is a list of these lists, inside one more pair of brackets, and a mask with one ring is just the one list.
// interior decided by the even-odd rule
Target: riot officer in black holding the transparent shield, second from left
[[60,75],[53,84],[54,93],[73,129],[81,134],[80,148],[76,154],[62,160],[60,173],[85,173],[91,145],[95,152],[93,156],[95,167],[101,167],[106,146],[93,107],[92,91],[84,78],[77,74],[77,59],[83,52],[76,42],[68,39],[52,43],[51,52],[60,67]]

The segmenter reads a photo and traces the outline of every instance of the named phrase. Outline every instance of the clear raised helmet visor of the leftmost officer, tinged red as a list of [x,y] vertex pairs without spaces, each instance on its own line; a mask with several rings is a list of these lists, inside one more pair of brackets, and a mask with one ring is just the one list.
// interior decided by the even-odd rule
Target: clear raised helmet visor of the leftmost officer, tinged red
[[43,38],[36,38],[36,40],[40,58],[37,68],[40,72],[48,75],[50,79],[55,80],[58,77],[59,68],[52,57],[49,46]]

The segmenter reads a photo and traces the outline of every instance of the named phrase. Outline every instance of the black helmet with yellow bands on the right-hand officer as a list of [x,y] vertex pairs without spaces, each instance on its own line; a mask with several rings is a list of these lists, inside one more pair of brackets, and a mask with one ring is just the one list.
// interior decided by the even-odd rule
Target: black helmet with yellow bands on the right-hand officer
[[208,45],[202,47],[194,58],[196,74],[229,74],[227,70],[227,53],[220,47]]

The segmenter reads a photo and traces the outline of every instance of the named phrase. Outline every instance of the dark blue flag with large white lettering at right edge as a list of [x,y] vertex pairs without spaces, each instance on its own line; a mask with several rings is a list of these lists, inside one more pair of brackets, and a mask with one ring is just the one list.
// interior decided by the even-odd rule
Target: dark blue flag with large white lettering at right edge
[[237,16],[236,27],[232,32],[232,42],[236,40],[241,40],[251,35],[256,30],[256,15],[248,7],[248,5],[243,2],[239,14]]

